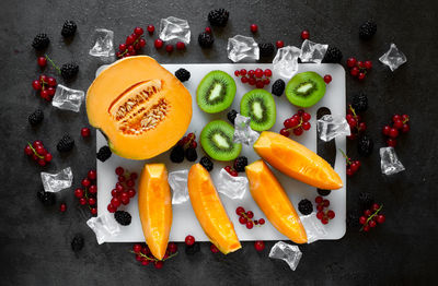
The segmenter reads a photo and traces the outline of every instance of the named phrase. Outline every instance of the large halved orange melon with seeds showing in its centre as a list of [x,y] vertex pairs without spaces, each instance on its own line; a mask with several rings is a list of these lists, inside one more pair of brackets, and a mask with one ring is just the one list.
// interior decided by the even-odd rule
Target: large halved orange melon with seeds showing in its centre
[[128,57],[93,81],[87,92],[87,114],[114,153],[147,159],[168,151],[184,135],[192,119],[192,96],[154,59]]

